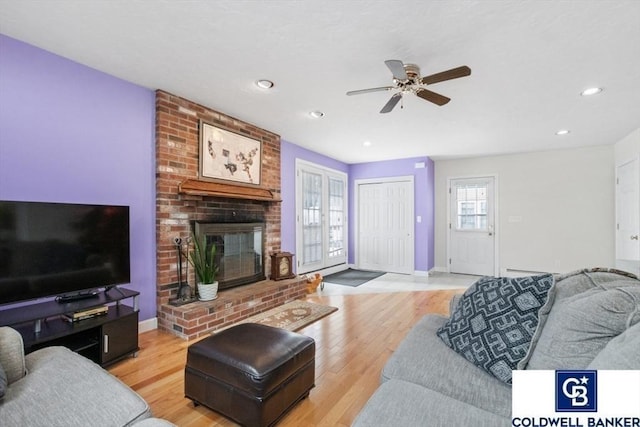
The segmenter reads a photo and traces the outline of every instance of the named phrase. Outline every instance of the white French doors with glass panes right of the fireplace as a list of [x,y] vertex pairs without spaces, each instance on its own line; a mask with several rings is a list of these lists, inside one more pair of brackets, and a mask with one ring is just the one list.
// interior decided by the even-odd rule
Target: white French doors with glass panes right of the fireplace
[[347,261],[346,175],[299,161],[296,167],[298,273]]

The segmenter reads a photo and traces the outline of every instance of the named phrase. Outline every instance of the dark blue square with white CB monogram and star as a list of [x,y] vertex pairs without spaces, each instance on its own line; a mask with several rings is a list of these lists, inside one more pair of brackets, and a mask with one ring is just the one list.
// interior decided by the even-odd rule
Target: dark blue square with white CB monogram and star
[[597,411],[597,371],[556,371],[556,412]]

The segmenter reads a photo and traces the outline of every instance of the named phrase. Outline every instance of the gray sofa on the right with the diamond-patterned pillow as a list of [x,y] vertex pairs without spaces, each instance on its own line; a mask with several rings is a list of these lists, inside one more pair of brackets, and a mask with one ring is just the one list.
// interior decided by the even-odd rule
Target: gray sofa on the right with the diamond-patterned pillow
[[[479,280],[453,301],[450,318],[421,319],[384,366],[380,387],[353,425],[509,426],[511,369],[640,369],[640,281],[635,276],[608,269],[555,276],[551,286],[534,284],[544,296],[537,300],[539,307],[535,299],[521,298],[531,289],[526,286],[500,294],[516,279],[502,280],[484,294],[478,293]],[[486,354],[474,357],[464,348],[473,342],[474,328],[485,327],[476,317],[479,301],[494,308],[511,301],[535,314],[535,324],[519,320],[515,333],[505,335],[505,343],[512,338],[514,344],[509,370],[502,369],[506,359],[496,362],[500,355],[492,364]]]

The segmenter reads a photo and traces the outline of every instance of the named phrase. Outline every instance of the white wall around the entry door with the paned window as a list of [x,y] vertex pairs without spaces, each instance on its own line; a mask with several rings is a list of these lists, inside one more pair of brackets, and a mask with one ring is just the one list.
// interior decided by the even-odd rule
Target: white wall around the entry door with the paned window
[[613,163],[613,145],[436,161],[435,269],[447,271],[448,179],[482,175],[497,176],[500,272],[612,267]]

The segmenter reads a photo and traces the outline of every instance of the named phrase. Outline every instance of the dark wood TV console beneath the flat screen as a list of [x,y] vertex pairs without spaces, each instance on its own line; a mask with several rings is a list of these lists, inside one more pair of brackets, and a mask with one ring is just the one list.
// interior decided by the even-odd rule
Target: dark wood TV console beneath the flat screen
[[[62,345],[106,366],[139,350],[139,295],[129,289],[112,288],[77,301],[47,301],[11,308],[0,311],[0,325],[20,332],[25,353]],[[123,304],[126,299],[132,299],[133,306]],[[64,320],[65,314],[104,305],[109,306],[105,315],[76,322]]]

